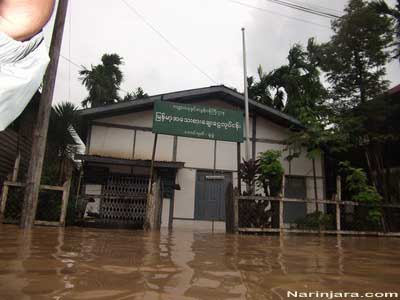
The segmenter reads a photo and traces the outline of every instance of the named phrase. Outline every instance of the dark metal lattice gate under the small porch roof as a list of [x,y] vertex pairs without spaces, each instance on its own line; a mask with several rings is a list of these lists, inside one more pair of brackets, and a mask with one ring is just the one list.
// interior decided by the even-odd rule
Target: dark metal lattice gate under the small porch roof
[[142,228],[146,216],[147,176],[110,175],[100,204],[102,223]]

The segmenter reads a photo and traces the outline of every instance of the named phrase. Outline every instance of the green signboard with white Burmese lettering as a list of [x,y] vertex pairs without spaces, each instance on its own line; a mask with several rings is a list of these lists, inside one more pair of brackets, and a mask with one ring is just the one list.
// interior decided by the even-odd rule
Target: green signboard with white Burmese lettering
[[200,139],[243,142],[241,111],[156,101],[153,132]]

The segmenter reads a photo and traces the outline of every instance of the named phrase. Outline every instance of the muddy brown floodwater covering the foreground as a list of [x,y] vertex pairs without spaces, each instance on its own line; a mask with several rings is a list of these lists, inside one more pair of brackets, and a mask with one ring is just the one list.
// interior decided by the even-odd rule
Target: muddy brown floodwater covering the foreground
[[2,225],[0,299],[286,299],[288,291],[400,292],[399,250],[396,238],[45,227],[24,233]]

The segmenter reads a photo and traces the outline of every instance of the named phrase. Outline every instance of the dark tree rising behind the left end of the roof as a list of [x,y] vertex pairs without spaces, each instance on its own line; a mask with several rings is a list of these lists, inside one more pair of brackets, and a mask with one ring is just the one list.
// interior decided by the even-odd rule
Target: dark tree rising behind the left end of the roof
[[89,92],[89,96],[82,101],[85,108],[113,104],[120,100],[118,91],[123,80],[120,70],[122,57],[104,54],[101,61],[99,65],[92,65],[90,69],[83,67],[79,71],[80,80]]

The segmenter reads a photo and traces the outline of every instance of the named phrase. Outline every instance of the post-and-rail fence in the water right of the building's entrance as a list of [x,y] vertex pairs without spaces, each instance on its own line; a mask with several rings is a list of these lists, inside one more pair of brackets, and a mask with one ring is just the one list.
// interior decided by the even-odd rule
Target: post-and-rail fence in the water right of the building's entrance
[[241,233],[327,233],[400,237],[400,204],[336,199],[233,197],[233,226]]

